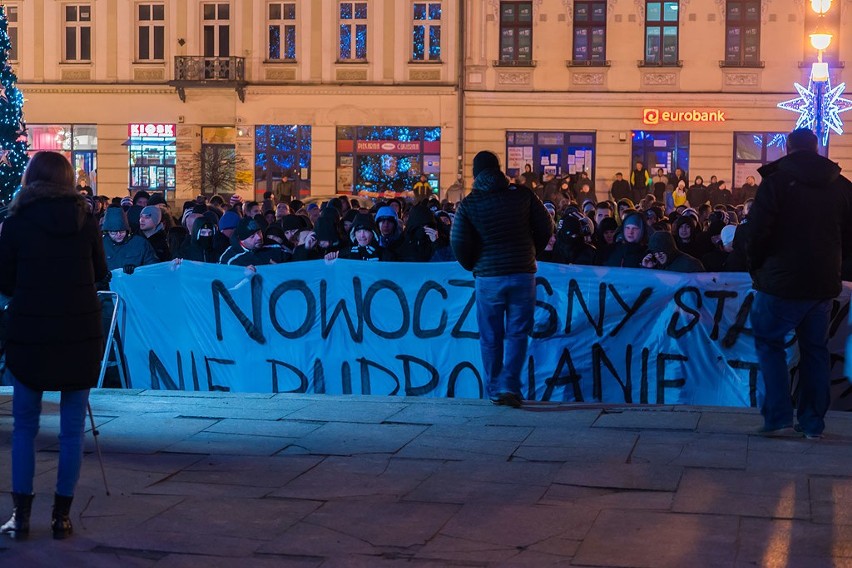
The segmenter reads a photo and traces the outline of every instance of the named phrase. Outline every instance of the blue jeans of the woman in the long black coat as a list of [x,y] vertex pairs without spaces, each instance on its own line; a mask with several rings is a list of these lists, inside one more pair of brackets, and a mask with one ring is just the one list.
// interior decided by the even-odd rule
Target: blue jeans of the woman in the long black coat
[[[7,379],[14,385],[12,416],[12,491],[30,495],[35,474],[35,437],[41,416],[42,391],[33,390],[6,369]],[[89,389],[63,391],[59,403],[59,469],[56,493],[72,497],[80,479],[83,463],[83,432]]]

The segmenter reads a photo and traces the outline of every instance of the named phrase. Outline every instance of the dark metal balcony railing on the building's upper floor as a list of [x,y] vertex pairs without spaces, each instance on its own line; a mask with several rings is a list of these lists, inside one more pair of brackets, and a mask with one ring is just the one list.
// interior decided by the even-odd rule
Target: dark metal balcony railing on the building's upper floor
[[245,57],[204,57],[179,55],[175,57],[175,78],[169,84],[177,89],[180,100],[186,102],[186,89],[194,87],[231,87],[245,102]]

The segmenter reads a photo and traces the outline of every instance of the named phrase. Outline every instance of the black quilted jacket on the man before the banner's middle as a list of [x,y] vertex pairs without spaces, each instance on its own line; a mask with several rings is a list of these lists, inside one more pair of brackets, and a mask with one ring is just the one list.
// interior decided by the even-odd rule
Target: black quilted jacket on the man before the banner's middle
[[536,253],[552,233],[553,220],[532,191],[509,185],[499,170],[485,170],[459,204],[450,242],[474,276],[503,276],[535,272]]

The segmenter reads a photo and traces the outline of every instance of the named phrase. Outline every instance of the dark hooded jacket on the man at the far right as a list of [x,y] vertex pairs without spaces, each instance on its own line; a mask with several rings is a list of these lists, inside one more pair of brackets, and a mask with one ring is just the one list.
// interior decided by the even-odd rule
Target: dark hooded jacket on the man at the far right
[[834,298],[844,251],[852,250],[852,184],[840,166],[810,151],[758,172],[763,180],[745,233],[754,289],[788,299]]

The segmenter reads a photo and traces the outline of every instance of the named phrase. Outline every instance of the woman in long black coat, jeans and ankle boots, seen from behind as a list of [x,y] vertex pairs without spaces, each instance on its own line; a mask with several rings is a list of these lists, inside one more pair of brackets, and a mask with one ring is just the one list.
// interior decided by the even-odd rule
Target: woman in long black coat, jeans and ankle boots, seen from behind
[[71,534],[69,513],[80,465],[89,389],[103,357],[95,283],[107,275],[103,241],[74,169],[62,154],[38,152],[0,231],[0,293],[8,312],[6,379],[14,386],[12,518],[0,533],[29,533],[43,391],[61,391],[59,468],[51,528]]

